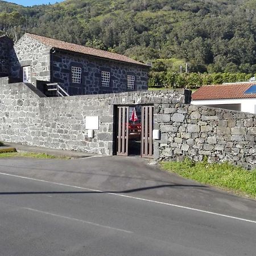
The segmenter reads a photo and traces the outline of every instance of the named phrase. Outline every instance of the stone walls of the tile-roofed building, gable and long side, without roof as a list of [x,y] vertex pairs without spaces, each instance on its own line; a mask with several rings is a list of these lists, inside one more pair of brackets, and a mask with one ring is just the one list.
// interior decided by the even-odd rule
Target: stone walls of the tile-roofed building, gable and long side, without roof
[[[0,38],[0,76],[2,68],[5,76],[22,81],[23,67],[30,66],[34,86],[37,80],[57,82],[69,95],[147,90],[149,67],[60,51],[28,35],[22,36],[14,47],[9,47],[9,41]],[[81,83],[72,82],[72,67],[81,68]],[[102,71],[110,72],[109,86],[102,86]],[[135,77],[133,90],[127,88],[128,75]]]

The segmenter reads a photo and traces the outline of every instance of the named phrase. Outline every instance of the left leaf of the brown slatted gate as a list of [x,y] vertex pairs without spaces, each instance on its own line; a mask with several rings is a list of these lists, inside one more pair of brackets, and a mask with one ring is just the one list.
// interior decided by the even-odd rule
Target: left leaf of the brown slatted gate
[[129,143],[129,106],[117,107],[117,155],[128,155]]

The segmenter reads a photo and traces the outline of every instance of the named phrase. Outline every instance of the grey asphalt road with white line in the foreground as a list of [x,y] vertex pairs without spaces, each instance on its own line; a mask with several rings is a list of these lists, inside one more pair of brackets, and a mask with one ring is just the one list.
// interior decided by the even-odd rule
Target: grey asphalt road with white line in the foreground
[[143,159],[1,159],[0,172],[0,255],[256,255],[256,201]]

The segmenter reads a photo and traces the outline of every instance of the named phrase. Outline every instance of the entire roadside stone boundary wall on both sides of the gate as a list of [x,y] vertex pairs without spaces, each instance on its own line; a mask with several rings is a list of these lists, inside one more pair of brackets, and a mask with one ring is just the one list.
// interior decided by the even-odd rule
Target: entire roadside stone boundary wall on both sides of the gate
[[[256,115],[190,105],[188,90],[44,97],[34,86],[0,79],[0,141],[112,155],[117,105],[154,105],[158,160],[229,161],[256,168]],[[99,116],[88,138],[85,117]]]

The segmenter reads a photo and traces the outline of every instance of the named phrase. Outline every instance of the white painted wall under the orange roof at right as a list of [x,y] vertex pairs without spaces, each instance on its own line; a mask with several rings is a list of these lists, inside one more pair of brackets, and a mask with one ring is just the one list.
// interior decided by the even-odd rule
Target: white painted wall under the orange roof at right
[[225,100],[192,100],[194,105],[241,104],[241,111],[256,114],[256,98],[234,98]]

